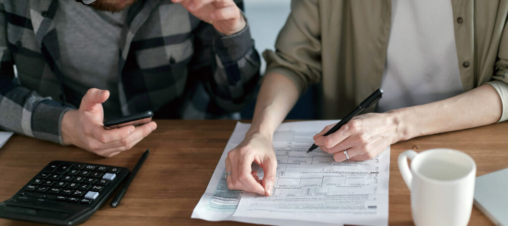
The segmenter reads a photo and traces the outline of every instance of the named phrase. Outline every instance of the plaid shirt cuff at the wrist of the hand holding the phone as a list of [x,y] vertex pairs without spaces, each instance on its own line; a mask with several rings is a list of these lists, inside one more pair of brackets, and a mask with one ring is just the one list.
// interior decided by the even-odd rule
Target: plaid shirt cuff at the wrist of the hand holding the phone
[[63,115],[71,109],[52,100],[37,103],[31,115],[31,129],[34,137],[63,145],[61,120]]

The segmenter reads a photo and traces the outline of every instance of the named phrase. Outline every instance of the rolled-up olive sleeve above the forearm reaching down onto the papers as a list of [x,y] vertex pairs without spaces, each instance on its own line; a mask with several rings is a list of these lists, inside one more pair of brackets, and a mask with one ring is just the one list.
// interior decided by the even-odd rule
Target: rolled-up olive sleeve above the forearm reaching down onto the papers
[[317,1],[291,1],[291,13],[280,30],[275,51],[267,50],[266,74],[279,73],[295,83],[300,93],[321,81],[321,25]]

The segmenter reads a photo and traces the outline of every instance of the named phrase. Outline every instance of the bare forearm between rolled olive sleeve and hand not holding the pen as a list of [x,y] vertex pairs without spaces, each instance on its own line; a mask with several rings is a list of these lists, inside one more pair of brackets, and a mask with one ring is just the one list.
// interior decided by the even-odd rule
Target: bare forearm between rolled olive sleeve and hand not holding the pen
[[265,75],[247,135],[261,133],[272,137],[298,97],[299,90],[288,77],[277,73]]

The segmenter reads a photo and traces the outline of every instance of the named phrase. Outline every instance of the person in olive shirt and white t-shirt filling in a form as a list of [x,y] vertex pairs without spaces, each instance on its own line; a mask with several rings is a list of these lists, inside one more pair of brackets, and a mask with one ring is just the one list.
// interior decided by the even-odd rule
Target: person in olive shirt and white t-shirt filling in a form
[[[273,132],[305,88],[322,118],[340,118],[381,87],[377,111],[314,136],[336,162],[390,144],[508,119],[508,1],[293,1],[245,140],[228,153],[230,189],[270,195]],[[373,107],[372,107],[373,108]],[[453,141],[450,141],[453,142]],[[347,155],[344,150],[347,150]],[[260,180],[250,165],[264,169]]]

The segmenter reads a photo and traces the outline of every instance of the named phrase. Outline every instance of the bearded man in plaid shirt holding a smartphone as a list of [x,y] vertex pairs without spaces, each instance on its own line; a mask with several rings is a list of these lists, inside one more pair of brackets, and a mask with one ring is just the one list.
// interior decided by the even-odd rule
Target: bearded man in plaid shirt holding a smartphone
[[105,117],[226,117],[257,85],[259,55],[241,1],[84,3],[0,1],[3,130],[111,157],[156,124],[107,131]]

